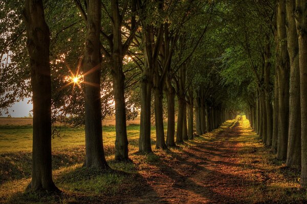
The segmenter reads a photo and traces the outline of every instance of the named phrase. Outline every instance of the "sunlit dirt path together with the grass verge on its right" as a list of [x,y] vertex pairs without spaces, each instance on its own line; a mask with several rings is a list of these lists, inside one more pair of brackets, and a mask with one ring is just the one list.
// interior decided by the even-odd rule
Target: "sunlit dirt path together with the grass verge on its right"
[[[226,121],[184,149],[187,157],[157,169],[150,191],[133,203],[301,202],[299,184],[286,181],[274,156],[245,118]],[[160,172],[159,172],[160,171]]]

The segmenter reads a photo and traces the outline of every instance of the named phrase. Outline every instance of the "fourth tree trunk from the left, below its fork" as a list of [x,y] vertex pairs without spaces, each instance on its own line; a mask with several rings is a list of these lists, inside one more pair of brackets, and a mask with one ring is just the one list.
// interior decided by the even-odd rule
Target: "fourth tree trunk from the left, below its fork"
[[139,139],[139,151],[150,153],[151,141],[150,141],[150,102],[151,102],[151,89],[152,81],[150,77],[150,70],[144,67],[142,79],[140,81],[141,89],[141,117],[140,117],[140,139]]

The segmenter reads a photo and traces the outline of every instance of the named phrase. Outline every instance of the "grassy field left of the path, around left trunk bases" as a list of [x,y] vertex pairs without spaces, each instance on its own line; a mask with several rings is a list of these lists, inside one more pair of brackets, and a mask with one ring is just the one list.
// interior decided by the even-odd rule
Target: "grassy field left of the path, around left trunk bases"
[[[7,119],[7,121],[5,121]],[[1,118],[0,125],[0,203],[54,203],[65,201],[64,198],[45,197],[24,194],[31,181],[32,125],[28,118]],[[52,139],[52,166],[56,185],[66,192],[84,200],[113,196],[124,190],[123,186],[134,183],[133,177],[138,173],[135,165],[154,162],[157,155],[138,155],[139,120],[127,122],[129,157],[131,163],[115,162],[115,126],[114,120],[103,121],[103,144],[106,160],[115,172],[101,173],[99,170],[82,167],[85,157],[84,127],[59,127],[59,135]],[[166,128],[166,127],[165,127]],[[151,129],[152,149],[155,149],[155,128]],[[157,153],[157,151],[155,150]],[[159,152],[158,152],[159,154]],[[141,165],[142,166],[142,165]],[[126,175],[125,173],[128,173]],[[69,192],[69,193],[67,193]],[[102,199],[102,198],[100,198]],[[72,200],[70,200],[73,202]]]

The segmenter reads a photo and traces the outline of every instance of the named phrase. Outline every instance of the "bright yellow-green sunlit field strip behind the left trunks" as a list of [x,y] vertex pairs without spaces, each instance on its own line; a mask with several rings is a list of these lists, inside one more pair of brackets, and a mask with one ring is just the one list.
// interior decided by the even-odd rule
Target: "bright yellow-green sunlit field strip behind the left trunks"
[[[25,120],[25,119],[24,119]],[[22,121],[22,120],[21,120]],[[109,122],[108,124],[110,124]],[[56,127],[58,134],[52,139],[52,150],[63,150],[77,146],[84,146],[84,127]],[[137,147],[140,126],[130,123],[127,126],[127,135],[130,147]],[[155,140],[155,129],[152,128],[152,139]],[[103,143],[105,148],[112,147],[115,143],[115,126],[103,126]],[[0,153],[31,151],[32,150],[32,126],[31,125],[0,125]],[[112,150],[113,151],[113,150]]]

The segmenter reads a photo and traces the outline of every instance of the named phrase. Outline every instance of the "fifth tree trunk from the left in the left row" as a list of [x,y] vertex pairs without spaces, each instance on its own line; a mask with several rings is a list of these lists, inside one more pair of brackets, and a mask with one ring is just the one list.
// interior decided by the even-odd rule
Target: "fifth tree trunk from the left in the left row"
[[163,92],[155,88],[156,149],[166,149],[163,125]]

